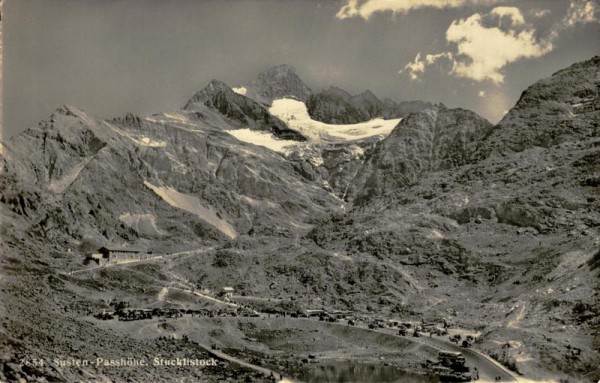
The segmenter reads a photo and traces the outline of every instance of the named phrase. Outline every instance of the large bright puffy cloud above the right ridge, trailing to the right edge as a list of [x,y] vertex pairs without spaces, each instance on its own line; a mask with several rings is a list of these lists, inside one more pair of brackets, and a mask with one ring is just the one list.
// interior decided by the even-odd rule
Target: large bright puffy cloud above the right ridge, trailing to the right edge
[[504,81],[503,69],[523,59],[544,56],[554,49],[560,33],[578,24],[598,20],[599,7],[590,0],[573,0],[563,20],[544,38],[538,38],[517,7],[496,7],[487,14],[475,13],[466,19],[454,20],[446,30],[450,50],[422,55],[409,62],[400,73],[419,80],[431,66],[449,60],[450,75],[474,81]]

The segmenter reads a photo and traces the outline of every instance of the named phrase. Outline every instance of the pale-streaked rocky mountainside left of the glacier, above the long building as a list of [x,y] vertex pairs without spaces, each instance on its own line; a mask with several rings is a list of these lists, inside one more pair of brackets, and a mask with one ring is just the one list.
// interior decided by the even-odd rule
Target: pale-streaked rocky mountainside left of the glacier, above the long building
[[48,240],[235,237],[335,203],[278,153],[184,114],[109,122],[63,107],[3,145],[2,201]]

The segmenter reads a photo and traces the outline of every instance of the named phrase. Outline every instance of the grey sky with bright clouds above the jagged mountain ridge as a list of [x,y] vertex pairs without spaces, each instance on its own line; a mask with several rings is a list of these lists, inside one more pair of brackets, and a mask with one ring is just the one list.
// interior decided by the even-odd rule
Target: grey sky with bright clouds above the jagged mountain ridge
[[3,136],[64,104],[181,108],[211,79],[293,65],[380,98],[496,123],[533,82],[600,54],[600,0],[5,0]]

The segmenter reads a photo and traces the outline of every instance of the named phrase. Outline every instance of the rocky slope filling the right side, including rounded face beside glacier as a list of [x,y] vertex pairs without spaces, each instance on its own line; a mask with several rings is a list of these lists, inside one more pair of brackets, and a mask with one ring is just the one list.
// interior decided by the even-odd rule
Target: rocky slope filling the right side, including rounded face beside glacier
[[[593,376],[600,360],[599,64],[595,57],[534,84],[493,128],[466,111],[409,116],[366,155],[352,182],[363,185],[359,206],[309,237],[332,252],[403,265],[428,281],[403,297],[409,307],[459,321],[480,316],[476,322],[489,324],[485,347],[493,353],[494,344],[509,344],[507,357],[526,375],[553,366],[546,377]],[[555,114],[557,107],[564,113]],[[435,112],[453,122],[441,141],[431,134]],[[467,293],[475,288],[481,296]],[[575,357],[571,347],[586,351]]]

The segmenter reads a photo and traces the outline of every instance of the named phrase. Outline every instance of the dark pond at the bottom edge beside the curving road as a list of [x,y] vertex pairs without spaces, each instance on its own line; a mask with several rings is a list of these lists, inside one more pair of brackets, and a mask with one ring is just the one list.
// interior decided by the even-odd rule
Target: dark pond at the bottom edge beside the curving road
[[429,383],[431,378],[402,371],[394,366],[359,362],[314,364],[311,370],[298,376],[307,383]]

